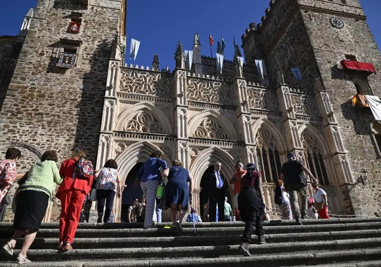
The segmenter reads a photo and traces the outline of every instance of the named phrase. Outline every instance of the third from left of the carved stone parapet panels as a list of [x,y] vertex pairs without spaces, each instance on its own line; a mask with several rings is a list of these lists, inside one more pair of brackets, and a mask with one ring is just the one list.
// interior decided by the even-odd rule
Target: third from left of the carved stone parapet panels
[[276,111],[278,100],[275,92],[260,88],[247,88],[250,108]]

